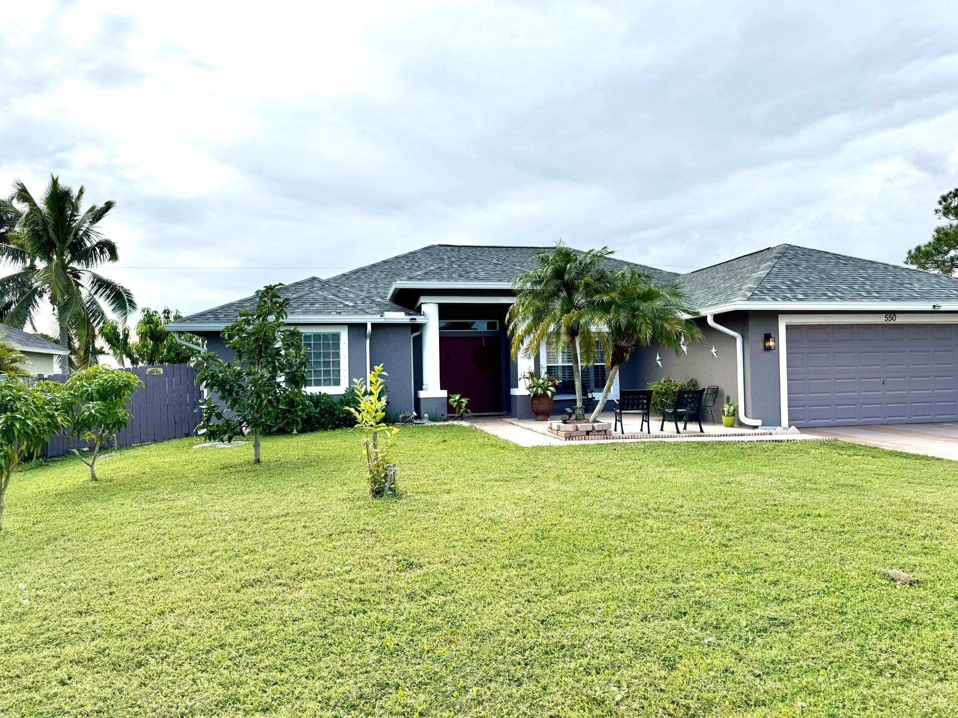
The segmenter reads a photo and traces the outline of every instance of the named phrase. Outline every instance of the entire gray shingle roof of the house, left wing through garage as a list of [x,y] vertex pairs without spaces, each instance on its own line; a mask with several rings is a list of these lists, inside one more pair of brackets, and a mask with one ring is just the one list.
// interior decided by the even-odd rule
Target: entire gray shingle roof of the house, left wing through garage
[[[509,282],[536,266],[543,247],[430,244],[321,280],[309,277],[280,287],[288,297],[289,318],[297,316],[379,317],[384,312],[422,315],[390,302],[396,282]],[[579,251],[579,250],[576,250]],[[643,264],[609,258],[646,272],[656,281],[679,280],[688,302],[699,309],[734,302],[958,302],[958,279],[918,269],[780,244],[710,267],[678,275]],[[256,296],[222,304],[174,324],[229,324],[239,309],[253,309]],[[28,335],[32,336],[32,335]],[[45,341],[45,340],[40,340]]]

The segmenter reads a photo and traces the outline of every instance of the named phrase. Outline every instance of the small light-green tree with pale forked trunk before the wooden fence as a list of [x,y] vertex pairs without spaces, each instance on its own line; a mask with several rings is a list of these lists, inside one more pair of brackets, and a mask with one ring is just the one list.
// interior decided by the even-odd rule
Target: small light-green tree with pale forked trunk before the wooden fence
[[[129,371],[93,366],[82,369],[67,379],[63,387],[67,440],[73,453],[90,468],[90,480],[97,481],[97,457],[110,438],[129,422],[126,408],[130,395],[143,386],[139,377]],[[83,456],[78,441],[93,444]]]

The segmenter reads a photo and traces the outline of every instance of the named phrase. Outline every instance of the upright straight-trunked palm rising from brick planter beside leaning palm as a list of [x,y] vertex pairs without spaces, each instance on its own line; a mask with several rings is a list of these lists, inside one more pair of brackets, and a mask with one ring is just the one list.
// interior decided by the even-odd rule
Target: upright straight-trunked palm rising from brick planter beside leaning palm
[[592,288],[602,286],[607,270],[605,259],[612,252],[603,247],[584,254],[562,242],[551,251],[536,252],[539,265],[513,280],[515,303],[506,321],[513,335],[513,359],[519,352],[534,356],[543,341],[557,352],[568,346],[576,386],[576,418],[585,418],[582,406],[582,364],[591,364],[596,355],[592,325],[582,322],[582,310],[589,304]]

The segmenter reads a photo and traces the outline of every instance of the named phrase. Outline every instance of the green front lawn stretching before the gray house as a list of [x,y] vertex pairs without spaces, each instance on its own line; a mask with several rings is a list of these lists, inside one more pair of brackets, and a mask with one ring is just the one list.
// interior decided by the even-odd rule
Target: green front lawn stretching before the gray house
[[[958,464],[403,429],[28,466],[0,716],[958,713]],[[884,569],[922,578],[900,587]]]

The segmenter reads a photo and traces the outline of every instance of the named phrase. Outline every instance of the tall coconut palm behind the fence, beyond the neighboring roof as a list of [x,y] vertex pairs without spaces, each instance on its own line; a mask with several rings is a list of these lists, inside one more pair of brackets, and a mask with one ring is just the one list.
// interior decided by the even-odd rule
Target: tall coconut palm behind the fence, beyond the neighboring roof
[[59,344],[73,350],[77,367],[95,362],[97,329],[106,321],[101,301],[123,321],[136,309],[125,286],[93,271],[117,260],[116,244],[97,230],[113,202],[85,212],[82,203],[82,187],[74,192],[54,176],[41,202],[19,181],[11,199],[0,201],[0,214],[16,217],[13,231],[0,241],[0,258],[19,270],[0,279],[0,319],[19,329],[34,325],[40,303],[49,300]]

